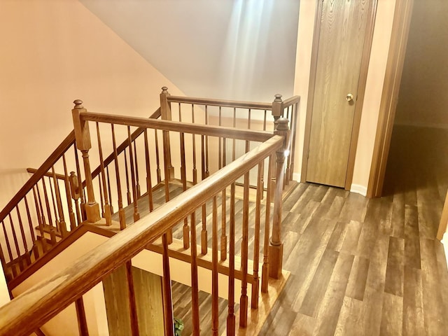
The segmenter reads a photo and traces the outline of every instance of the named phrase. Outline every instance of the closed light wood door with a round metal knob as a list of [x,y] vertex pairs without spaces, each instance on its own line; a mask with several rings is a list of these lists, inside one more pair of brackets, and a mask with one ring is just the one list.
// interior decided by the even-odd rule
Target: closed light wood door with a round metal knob
[[306,181],[345,186],[372,1],[321,4]]

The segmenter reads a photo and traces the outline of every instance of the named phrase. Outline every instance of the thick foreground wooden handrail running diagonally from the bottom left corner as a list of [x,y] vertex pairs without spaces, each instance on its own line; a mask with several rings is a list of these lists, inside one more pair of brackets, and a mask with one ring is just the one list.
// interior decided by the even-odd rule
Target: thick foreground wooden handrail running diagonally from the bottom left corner
[[137,255],[147,244],[173,228],[186,214],[195,211],[210,197],[220,193],[282,146],[283,137],[268,139],[208,179],[141,218],[127,230],[86,253],[51,279],[38,283],[0,307],[0,335],[31,334],[114,269]]

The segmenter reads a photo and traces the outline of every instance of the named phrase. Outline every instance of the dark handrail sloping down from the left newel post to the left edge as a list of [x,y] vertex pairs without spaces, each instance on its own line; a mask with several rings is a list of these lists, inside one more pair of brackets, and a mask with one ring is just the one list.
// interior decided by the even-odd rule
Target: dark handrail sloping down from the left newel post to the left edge
[[43,162],[41,167],[36,170],[36,173],[29,178],[29,180],[20,188],[20,190],[14,195],[14,197],[6,204],[6,207],[0,212],[0,222],[3,221],[6,216],[12,211],[20,200],[27,195],[29,190],[51,169],[52,165],[64,154],[70,146],[75,142],[75,132],[71,131],[70,134],[57,146],[55,151],[50,154],[47,160]]

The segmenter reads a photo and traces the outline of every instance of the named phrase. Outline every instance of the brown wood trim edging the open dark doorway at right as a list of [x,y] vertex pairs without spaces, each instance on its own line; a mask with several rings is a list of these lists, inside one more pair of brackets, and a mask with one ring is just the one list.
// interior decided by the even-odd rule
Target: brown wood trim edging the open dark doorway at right
[[367,186],[367,197],[369,198],[381,197],[383,191],[413,7],[414,0],[399,0],[395,4],[391,46],[387,57],[386,75],[384,76],[383,92],[379,106],[377,134],[375,136],[372,165],[370,166],[369,183]]

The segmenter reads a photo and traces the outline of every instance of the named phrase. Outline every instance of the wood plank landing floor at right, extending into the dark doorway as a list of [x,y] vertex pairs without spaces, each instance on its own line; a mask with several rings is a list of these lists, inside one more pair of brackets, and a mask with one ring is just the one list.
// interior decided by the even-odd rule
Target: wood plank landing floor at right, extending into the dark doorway
[[395,127],[385,196],[304,183],[283,203],[286,288],[260,335],[448,335],[435,233],[448,132]]

